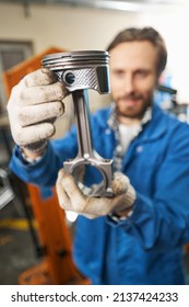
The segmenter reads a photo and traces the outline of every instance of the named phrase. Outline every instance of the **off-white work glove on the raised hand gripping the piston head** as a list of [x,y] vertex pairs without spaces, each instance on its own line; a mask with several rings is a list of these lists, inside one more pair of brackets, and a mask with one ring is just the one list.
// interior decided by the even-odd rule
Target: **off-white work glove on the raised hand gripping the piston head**
[[37,149],[55,134],[55,120],[64,112],[67,90],[52,71],[38,69],[12,89],[8,102],[11,133],[19,146]]

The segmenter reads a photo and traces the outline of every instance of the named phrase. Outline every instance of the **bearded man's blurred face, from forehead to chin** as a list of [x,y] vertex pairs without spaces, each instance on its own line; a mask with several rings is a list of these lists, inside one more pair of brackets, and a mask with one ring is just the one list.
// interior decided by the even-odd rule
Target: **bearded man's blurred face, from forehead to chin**
[[127,42],[109,52],[111,96],[119,117],[141,118],[157,82],[157,50],[147,41]]

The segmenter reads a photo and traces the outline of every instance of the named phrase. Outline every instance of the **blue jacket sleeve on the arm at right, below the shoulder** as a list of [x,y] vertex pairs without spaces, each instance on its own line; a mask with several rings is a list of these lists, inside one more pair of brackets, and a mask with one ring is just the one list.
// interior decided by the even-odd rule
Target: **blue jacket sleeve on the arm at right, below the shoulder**
[[[186,127],[186,126],[185,126]],[[108,223],[122,227],[146,250],[166,250],[189,242],[189,129],[180,129],[167,146],[154,174],[153,196],[137,192],[131,216]]]

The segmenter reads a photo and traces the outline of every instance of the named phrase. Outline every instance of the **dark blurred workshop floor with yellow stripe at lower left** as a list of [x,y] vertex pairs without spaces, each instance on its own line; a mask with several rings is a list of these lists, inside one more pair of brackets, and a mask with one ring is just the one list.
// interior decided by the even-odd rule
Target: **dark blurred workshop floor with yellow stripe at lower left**
[[[23,207],[11,202],[0,212],[0,285],[19,284],[23,272],[39,262]],[[186,268],[189,274],[189,252]]]

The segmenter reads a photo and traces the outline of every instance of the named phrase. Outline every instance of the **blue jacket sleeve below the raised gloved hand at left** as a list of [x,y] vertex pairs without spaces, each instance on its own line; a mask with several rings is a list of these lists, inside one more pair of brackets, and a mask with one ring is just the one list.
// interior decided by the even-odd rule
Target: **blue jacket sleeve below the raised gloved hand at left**
[[49,141],[42,159],[34,163],[25,161],[19,146],[15,146],[9,167],[24,182],[40,187],[54,186],[63,161],[74,158],[76,148],[75,127],[73,127],[64,138]]

